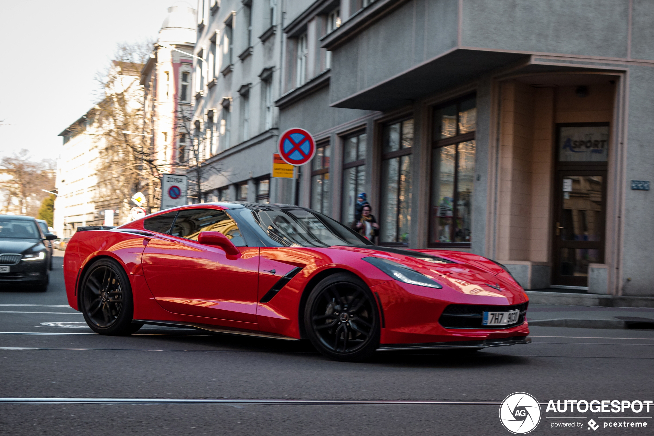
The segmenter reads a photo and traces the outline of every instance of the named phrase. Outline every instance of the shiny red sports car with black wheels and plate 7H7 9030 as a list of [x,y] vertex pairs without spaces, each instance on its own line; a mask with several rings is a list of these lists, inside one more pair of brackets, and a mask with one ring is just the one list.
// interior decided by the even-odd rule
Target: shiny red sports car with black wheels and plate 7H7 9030
[[528,298],[502,265],[375,246],[310,209],[203,203],[95,228],[75,233],[64,271],[71,307],[97,333],[155,324],[309,339],[343,361],[531,342]]

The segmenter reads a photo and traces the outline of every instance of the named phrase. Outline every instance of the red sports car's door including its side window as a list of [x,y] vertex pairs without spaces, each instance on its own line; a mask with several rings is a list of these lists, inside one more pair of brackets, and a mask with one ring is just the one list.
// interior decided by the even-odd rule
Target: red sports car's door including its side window
[[[201,231],[220,231],[241,254],[198,243]],[[143,252],[146,282],[163,309],[256,327],[259,248],[245,246],[228,214],[211,207],[182,209],[169,233],[150,239]]]

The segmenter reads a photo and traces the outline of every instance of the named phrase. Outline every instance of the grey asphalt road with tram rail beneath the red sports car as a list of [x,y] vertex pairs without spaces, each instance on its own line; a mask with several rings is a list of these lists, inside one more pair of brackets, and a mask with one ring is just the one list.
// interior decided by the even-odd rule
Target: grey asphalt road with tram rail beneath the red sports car
[[[144,327],[90,334],[67,307],[61,258],[48,292],[0,289],[0,397],[468,401],[472,405],[7,404],[2,435],[509,435],[497,405],[513,392],[553,399],[654,399],[654,331],[532,327],[534,343],[472,354],[323,358],[307,344]],[[56,323],[56,324],[48,324]],[[546,412],[530,434],[653,433],[649,414]],[[555,417],[555,418],[553,418]],[[564,417],[564,418],[561,418]],[[604,428],[604,422],[647,428]],[[649,417],[649,419],[645,418]],[[618,419],[619,418],[619,419]],[[583,427],[553,428],[579,422]]]

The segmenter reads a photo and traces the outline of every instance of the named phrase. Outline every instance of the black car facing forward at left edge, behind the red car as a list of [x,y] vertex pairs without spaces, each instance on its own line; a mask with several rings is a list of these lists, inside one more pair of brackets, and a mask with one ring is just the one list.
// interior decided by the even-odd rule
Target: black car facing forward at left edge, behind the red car
[[0,215],[0,284],[26,284],[48,289],[50,252],[45,241],[56,239],[43,233],[31,216]]

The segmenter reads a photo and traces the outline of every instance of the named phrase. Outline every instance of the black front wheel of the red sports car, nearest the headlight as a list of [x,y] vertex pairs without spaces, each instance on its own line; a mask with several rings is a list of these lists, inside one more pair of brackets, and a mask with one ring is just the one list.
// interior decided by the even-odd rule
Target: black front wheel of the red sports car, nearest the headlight
[[379,346],[374,297],[363,280],[349,273],[317,284],[307,299],[304,325],[313,346],[334,360],[366,360]]

